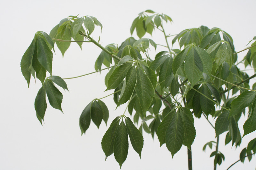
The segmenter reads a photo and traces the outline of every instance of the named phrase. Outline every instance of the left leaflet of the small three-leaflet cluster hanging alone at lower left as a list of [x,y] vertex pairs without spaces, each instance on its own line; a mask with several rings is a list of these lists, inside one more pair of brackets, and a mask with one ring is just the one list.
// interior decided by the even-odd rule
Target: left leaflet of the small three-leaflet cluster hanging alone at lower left
[[91,123],[91,111],[92,101],[84,108],[82,114],[79,118],[79,125],[82,131],[82,134],[85,134],[85,131],[89,128]]

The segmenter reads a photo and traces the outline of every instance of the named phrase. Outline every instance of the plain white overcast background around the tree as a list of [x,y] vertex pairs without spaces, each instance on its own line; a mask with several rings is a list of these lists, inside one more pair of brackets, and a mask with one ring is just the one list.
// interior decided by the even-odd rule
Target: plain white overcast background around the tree
[[[101,37],[101,43],[121,44],[130,35],[130,26],[138,13],[147,9],[163,12],[173,19],[167,26],[171,34],[199,27],[201,25],[219,27],[228,32],[234,40],[236,51],[245,48],[255,33],[255,0],[216,0],[216,1],[174,1],[174,0],[130,0],[130,1],[79,1],[79,0],[23,0],[2,1],[1,18],[1,96],[0,96],[0,169],[5,170],[46,170],[46,169],[119,169],[113,155],[105,161],[101,149],[101,139],[110,122],[123,114],[124,107],[116,110],[111,97],[103,99],[107,104],[110,119],[107,127],[101,124],[100,130],[91,124],[86,135],[80,136],[79,116],[84,107],[94,98],[101,98],[112,91],[104,92],[106,72],[83,78],[67,80],[69,92],[64,95],[62,114],[50,104],[45,114],[44,127],[38,122],[34,110],[34,100],[41,83],[31,80],[29,89],[20,71],[20,60],[36,31],[50,33],[50,30],[69,15],[91,15],[103,25],[103,31],[96,29],[92,34],[95,39]],[[156,37],[154,37],[156,35]],[[138,37],[134,34],[136,39]],[[161,34],[154,33],[153,39],[161,42]],[[148,35],[148,37],[150,37]],[[62,58],[56,49],[53,57],[53,75],[62,78],[78,76],[94,71],[94,62],[100,49],[93,44],[84,44],[83,51],[76,44]],[[152,49],[153,50],[153,49]],[[245,53],[238,55],[239,59]],[[154,58],[154,56],[152,56]],[[238,59],[238,60],[239,60]],[[245,118],[242,118],[242,127]],[[212,122],[214,124],[214,122]],[[202,152],[203,145],[215,140],[214,129],[204,119],[195,119],[196,139],[192,144],[192,164],[195,170],[213,169],[211,150]],[[241,128],[241,133],[243,130]],[[220,136],[220,151],[225,155],[225,162],[217,169],[227,169],[239,159],[239,153],[246,147],[248,140],[256,137],[252,133],[244,137],[240,148],[224,148],[226,133]],[[159,148],[158,139],[143,133],[144,147],[141,159],[133,151],[131,144],[128,157],[122,170],[130,169],[187,169],[187,149],[183,146],[172,159],[165,145]],[[231,169],[255,169],[255,156],[248,163],[237,163]]]

